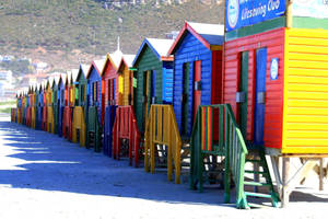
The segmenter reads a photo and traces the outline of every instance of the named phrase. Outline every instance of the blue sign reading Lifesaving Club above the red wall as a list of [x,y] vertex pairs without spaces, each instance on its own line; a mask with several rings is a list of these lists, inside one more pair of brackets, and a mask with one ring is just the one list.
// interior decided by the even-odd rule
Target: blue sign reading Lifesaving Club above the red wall
[[283,0],[226,0],[226,31],[253,25],[284,14]]

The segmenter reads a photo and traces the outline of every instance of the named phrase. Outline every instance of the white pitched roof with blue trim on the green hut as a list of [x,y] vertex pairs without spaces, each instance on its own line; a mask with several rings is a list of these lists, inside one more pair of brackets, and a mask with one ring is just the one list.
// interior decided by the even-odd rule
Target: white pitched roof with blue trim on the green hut
[[163,57],[167,57],[167,51],[171,48],[173,43],[174,43],[174,39],[144,38],[136,57],[134,57],[132,66],[134,66],[136,62],[139,60],[141,51],[143,50],[145,45],[148,45],[153,50],[153,53],[157,56],[159,60],[162,60]]

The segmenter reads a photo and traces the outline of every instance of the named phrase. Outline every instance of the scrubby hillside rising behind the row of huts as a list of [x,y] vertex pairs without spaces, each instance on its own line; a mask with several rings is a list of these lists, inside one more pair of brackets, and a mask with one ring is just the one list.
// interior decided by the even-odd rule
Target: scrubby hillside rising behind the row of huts
[[24,56],[26,50],[42,48],[73,59],[81,53],[113,51],[120,36],[122,51],[136,54],[143,37],[165,37],[184,21],[222,23],[221,9],[221,4],[192,0],[161,7],[154,0],[115,10],[92,0],[1,0],[0,51]]

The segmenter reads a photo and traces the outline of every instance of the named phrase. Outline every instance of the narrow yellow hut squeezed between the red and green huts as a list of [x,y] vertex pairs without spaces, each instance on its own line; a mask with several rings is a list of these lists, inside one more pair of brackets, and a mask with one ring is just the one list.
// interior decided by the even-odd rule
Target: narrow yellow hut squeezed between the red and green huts
[[124,55],[117,67],[119,105],[133,105],[133,71],[132,62],[136,55]]

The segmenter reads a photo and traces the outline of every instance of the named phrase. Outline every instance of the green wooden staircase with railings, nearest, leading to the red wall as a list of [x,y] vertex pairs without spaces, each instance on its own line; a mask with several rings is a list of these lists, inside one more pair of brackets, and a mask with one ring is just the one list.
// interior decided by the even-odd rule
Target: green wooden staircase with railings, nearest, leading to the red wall
[[253,197],[269,198],[278,206],[265,152],[259,148],[248,151],[230,104],[199,106],[190,142],[191,189],[201,192],[204,182],[211,183],[209,174],[221,174],[225,203],[231,201],[235,186],[237,208],[250,208]]

